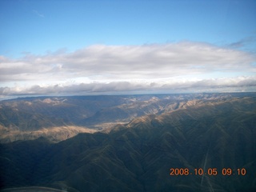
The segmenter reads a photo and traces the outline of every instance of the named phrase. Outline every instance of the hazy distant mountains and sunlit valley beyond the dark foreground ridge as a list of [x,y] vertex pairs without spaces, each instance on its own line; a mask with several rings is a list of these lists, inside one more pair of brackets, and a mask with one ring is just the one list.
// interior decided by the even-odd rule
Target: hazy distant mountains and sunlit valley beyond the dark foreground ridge
[[[160,94],[17,98],[0,102],[0,142],[41,136],[59,142],[110,130],[146,114],[164,114],[247,94]],[[254,93],[250,95],[255,95]]]

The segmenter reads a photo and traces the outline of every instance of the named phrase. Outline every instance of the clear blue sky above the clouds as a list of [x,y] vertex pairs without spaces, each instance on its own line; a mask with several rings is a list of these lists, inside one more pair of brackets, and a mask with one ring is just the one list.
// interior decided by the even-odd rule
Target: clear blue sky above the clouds
[[190,40],[231,44],[255,35],[255,1],[2,0],[1,54],[73,51],[93,44]]

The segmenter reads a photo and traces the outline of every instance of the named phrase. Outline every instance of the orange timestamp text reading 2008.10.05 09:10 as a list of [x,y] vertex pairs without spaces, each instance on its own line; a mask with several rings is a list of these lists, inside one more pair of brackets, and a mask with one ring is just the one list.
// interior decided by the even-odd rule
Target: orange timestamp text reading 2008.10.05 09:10
[[178,175],[246,175],[245,168],[238,168],[238,169],[231,169],[231,168],[222,168],[222,170],[218,170],[217,168],[208,168],[206,170],[202,168],[195,168],[194,170],[190,170],[188,168],[170,168],[170,175],[171,176],[178,176]]

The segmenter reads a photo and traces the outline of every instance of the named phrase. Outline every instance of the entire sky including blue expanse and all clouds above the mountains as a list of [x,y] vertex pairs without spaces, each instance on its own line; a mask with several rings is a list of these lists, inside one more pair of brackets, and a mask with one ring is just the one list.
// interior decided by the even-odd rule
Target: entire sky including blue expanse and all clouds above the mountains
[[0,98],[256,90],[255,0],[1,0]]

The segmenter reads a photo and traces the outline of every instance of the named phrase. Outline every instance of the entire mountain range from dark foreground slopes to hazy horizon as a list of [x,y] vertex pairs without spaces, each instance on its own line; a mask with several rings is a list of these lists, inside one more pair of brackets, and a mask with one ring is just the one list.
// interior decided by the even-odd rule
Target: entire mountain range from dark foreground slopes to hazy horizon
[[2,191],[256,191],[254,93],[18,98],[0,105],[5,133],[93,130],[65,139],[2,137]]

